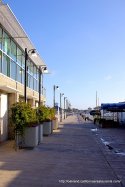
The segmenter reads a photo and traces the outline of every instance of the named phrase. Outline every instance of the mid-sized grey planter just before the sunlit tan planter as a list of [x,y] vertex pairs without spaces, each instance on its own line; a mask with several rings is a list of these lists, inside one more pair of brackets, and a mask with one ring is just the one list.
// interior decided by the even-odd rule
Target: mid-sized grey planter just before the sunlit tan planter
[[51,121],[43,122],[43,135],[48,136],[52,133]]

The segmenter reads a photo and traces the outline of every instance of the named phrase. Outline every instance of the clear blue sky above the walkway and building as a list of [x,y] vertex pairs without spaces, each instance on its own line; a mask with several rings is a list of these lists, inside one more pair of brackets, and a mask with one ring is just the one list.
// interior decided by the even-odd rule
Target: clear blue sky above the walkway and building
[[72,107],[125,101],[124,0],[4,0],[51,74],[44,75],[47,105],[53,85]]

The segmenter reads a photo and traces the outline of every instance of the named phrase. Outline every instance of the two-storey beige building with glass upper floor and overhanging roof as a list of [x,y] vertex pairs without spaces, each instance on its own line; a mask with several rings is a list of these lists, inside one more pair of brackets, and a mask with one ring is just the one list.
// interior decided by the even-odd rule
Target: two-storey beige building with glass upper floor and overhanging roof
[[46,101],[42,85],[42,67],[45,64],[39,54],[36,58],[31,56],[30,51],[34,48],[9,6],[0,2],[0,142],[8,138],[10,107],[24,100],[25,72],[27,102],[35,107]]

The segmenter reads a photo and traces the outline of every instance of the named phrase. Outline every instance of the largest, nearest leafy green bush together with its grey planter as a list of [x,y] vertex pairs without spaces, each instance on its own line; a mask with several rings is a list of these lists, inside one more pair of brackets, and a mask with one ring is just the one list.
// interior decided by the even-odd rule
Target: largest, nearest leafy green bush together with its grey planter
[[38,132],[34,132],[38,131],[36,110],[33,109],[30,104],[19,102],[12,106],[11,111],[11,119],[15,127],[15,132],[21,137],[19,143],[21,143],[22,146],[29,147],[37,145],[38,138],[36,137],[36,134],[38,134]]

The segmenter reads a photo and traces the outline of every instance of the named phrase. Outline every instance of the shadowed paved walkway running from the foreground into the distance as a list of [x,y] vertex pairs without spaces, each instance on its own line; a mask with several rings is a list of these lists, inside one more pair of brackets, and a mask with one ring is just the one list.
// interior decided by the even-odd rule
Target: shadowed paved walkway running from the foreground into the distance
[[0,146],[0,187],[125,186],[125,156],[109,149],[107,133],[74,115],[33,150]]

